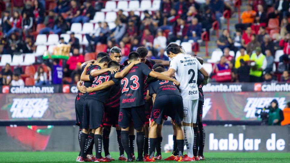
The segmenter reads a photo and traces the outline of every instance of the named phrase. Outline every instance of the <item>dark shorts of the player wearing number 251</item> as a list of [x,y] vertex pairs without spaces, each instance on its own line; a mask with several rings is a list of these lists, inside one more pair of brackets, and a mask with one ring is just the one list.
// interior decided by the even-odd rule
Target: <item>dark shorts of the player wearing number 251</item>
[[104,103],[97,100],[86,99],[84,102],[82,128],[96,129],[98,127],[103,127],[104,110]]

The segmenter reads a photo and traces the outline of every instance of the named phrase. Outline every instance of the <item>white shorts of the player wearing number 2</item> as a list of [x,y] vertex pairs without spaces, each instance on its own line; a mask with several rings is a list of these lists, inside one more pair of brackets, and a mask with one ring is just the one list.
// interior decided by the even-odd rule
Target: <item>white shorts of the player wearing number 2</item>
[[198,109],[197,100],[183,100],[183,122],[196,123]]

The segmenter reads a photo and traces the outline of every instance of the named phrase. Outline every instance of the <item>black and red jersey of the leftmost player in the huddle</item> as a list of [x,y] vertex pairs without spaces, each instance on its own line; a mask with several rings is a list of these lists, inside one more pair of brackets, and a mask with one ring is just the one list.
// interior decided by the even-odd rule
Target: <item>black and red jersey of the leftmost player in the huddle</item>
[[[82,66],[82,71],[84,71],[85,66],[86,65]],[[93,79],[93,77],[90,75],[90,73],[94,69],[99,70],[99,69],[101,69],[101,67],[98,66],[98,65],[91,65],[91,66],[89,66],[87,68],[87,72],[85,73],[86,75],[89,75],[91,80]],[[81,85],[84,85],[86,88],[91,87],[92,86],[92,81],[86,81],[86,82],[82,81]],[[80,91],[78,91],[78,94],[76,96],[76,105],[82,105],[83,101],[85,100],[85,96],[86,95],[87,95],[87,93],[83,94]]]

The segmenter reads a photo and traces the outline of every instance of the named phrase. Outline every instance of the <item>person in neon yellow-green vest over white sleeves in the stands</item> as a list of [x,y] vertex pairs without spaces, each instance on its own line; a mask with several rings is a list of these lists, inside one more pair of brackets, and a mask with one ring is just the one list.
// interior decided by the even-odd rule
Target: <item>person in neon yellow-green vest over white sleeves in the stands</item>
[[267,67],[266,56],[261,53],[261,47],[256,47],[256,53],[251,55],[250,82],[263,82],[262,74]]

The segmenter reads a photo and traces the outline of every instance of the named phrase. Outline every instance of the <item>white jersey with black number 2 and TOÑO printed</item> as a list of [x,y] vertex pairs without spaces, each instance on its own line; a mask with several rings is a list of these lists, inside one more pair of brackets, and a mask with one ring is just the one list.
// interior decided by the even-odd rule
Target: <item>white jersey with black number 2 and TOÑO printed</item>
[[171,59],[169,69],[174,69],[175,77],[180,82],[179,89],[183,100],[197,100],[198,70],[202,68],[200,62],[188,54],[179,54]]

